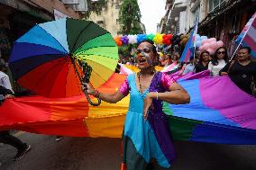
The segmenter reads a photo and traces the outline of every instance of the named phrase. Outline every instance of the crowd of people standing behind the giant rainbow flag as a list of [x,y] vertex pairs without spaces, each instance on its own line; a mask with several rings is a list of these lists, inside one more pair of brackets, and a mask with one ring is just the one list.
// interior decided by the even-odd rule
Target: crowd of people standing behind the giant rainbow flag
[[[230,76],[233,83],[242,91],[256,95],[256,62],[251,57],[249,47],[238,49],[235,58],[228,56],[228,49],[225,47],[216,49],[214,55],[210,55],[208,51],[196,52],[195,58],[189,58],[188,62],[180,62],[178,52],[158,52],[158,54],[158,66],[168,67],[173,63],[177,64],[177,69],[169,72],[170,74],[179,71],[179,75],[186,75],[189,72],[199,73],[209,70],[211,76]],[[131,60],[133,59],[129,58],[129,61]],[[138,66],[138,63],[129,61],[123,63]]]

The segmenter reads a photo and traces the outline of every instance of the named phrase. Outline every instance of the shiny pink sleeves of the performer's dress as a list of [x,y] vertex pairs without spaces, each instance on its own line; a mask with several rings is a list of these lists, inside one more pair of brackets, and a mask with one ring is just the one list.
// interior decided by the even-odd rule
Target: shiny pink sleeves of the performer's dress
[[[175,82],[175,79],[172,76],[170,76],[166,73],[162,73],[161,85],[163,85],[164,88],[169,89],[169,85],[173,84],[174,82]],[[123,81],[123,84],[119,87],[118,90],[124,96],[129,94],[129,83],[128,83],[127,78]]]

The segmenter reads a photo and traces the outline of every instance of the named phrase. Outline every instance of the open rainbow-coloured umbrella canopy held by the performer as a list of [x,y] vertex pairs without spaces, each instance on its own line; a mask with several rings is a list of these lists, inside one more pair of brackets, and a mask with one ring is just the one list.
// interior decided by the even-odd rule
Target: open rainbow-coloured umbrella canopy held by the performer
[[36,94],[83,94],[81,78],[92,67],[90,83],[103,85],[114,73],[118,49],[108,31],[94,22],[61,19],[35,25],[14,42],[9,61],[14,79]]

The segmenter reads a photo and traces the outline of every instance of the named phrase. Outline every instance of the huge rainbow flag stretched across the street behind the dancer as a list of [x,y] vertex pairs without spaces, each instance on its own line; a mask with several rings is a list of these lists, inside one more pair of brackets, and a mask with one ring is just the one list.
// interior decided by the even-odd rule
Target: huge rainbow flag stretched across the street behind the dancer
[[[178,79],[190,95],[190,103],[163,103],[173,139],[256,144],[256,99],[242,92],[228,76],[206,75],[205,72]],[[114,74],[99,91],[113,93],[125,77]],[[119,103],[103,102],[97,107],[90,106],[84,95],[8,99],[0,106],[0,130],[121,138],[128,103],[129,96]]]

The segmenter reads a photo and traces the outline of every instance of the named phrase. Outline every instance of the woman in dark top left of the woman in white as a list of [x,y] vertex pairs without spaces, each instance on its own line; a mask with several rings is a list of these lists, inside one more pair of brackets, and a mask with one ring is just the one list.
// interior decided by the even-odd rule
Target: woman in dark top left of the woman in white
[[195,66],[196,73],[199,73],[201,71],[205,71],[208,69],[208,64],[209,64],[209,58],[210,53],[208,51],[203,51],[200,54],[199,61],[197,65]]

